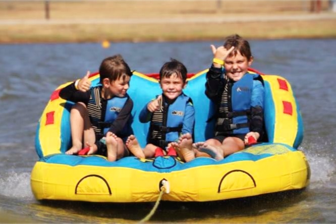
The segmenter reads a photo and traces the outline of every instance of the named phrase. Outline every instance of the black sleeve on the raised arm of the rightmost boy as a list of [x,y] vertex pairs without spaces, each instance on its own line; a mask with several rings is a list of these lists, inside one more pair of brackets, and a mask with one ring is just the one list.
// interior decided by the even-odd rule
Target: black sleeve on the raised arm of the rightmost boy
[[222,70],[211,66],[206,73],[205,95],[211,100],[216,100],[220,96],[222,89]]

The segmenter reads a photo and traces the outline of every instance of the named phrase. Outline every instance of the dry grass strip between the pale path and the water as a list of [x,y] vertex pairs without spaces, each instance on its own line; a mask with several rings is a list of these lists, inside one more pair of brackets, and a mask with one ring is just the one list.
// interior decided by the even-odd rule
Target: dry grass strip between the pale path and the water
[[205,41],[223,40],[233,33],[247,39],[325,39],[336,38],[336,19],[138,25],[0,24],[0,33],[0,44]]

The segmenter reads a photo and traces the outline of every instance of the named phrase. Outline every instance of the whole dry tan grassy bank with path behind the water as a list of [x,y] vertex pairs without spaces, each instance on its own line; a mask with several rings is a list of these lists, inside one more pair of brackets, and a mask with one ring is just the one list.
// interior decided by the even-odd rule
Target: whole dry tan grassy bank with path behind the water
[[0,43],[336,37],[327,1],[320,13],[310,1],[62,1],[49,3],[49,19],[45,7],[0,2]]

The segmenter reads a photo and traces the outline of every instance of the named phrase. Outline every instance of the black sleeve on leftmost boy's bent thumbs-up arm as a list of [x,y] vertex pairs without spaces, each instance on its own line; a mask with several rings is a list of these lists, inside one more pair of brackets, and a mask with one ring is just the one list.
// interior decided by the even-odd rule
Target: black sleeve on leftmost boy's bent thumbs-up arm
[[66,100],[70,100],[72,102],[87,102],[90,99],[90,91],[81,92],[75,88],[75,82],[70,85],[64,87],[60,91],[60,97]]

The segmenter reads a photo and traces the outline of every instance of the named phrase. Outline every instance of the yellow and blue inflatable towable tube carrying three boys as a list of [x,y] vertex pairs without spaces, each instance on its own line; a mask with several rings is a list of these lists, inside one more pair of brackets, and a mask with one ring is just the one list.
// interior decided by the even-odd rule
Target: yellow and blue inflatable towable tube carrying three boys
[[[213,134],[214,124],[207,123],[214,110],[204,94],[206,72],[190,77],[184,90],[195,107],[195,141]],[[186,163],[171,156],[129,156],[109,162],[104,156],[65,154],[71,146],[69,111],[73,103],[59,97],[59,91],[69,83],[61,85],[51,94],[37,127],[35,147],[40,159],[31,173],[35,198],[151,202],[158,198],[163,180],[170,184],[170,193],[162,196],[166,201],[215,201],[305,188],[310,172],[305,155],[297,150],[303,138],[300,108],[286,79],[274,75],[262,78],[268,142],[220,161],[199,157]],[[90,80],[97,85],[99,74],[92,74]],[[140,123],[139,111],[160,93],[156,79],[134,73],[128,94],[134,101],[132,129],[142,147],[149,123]]]

